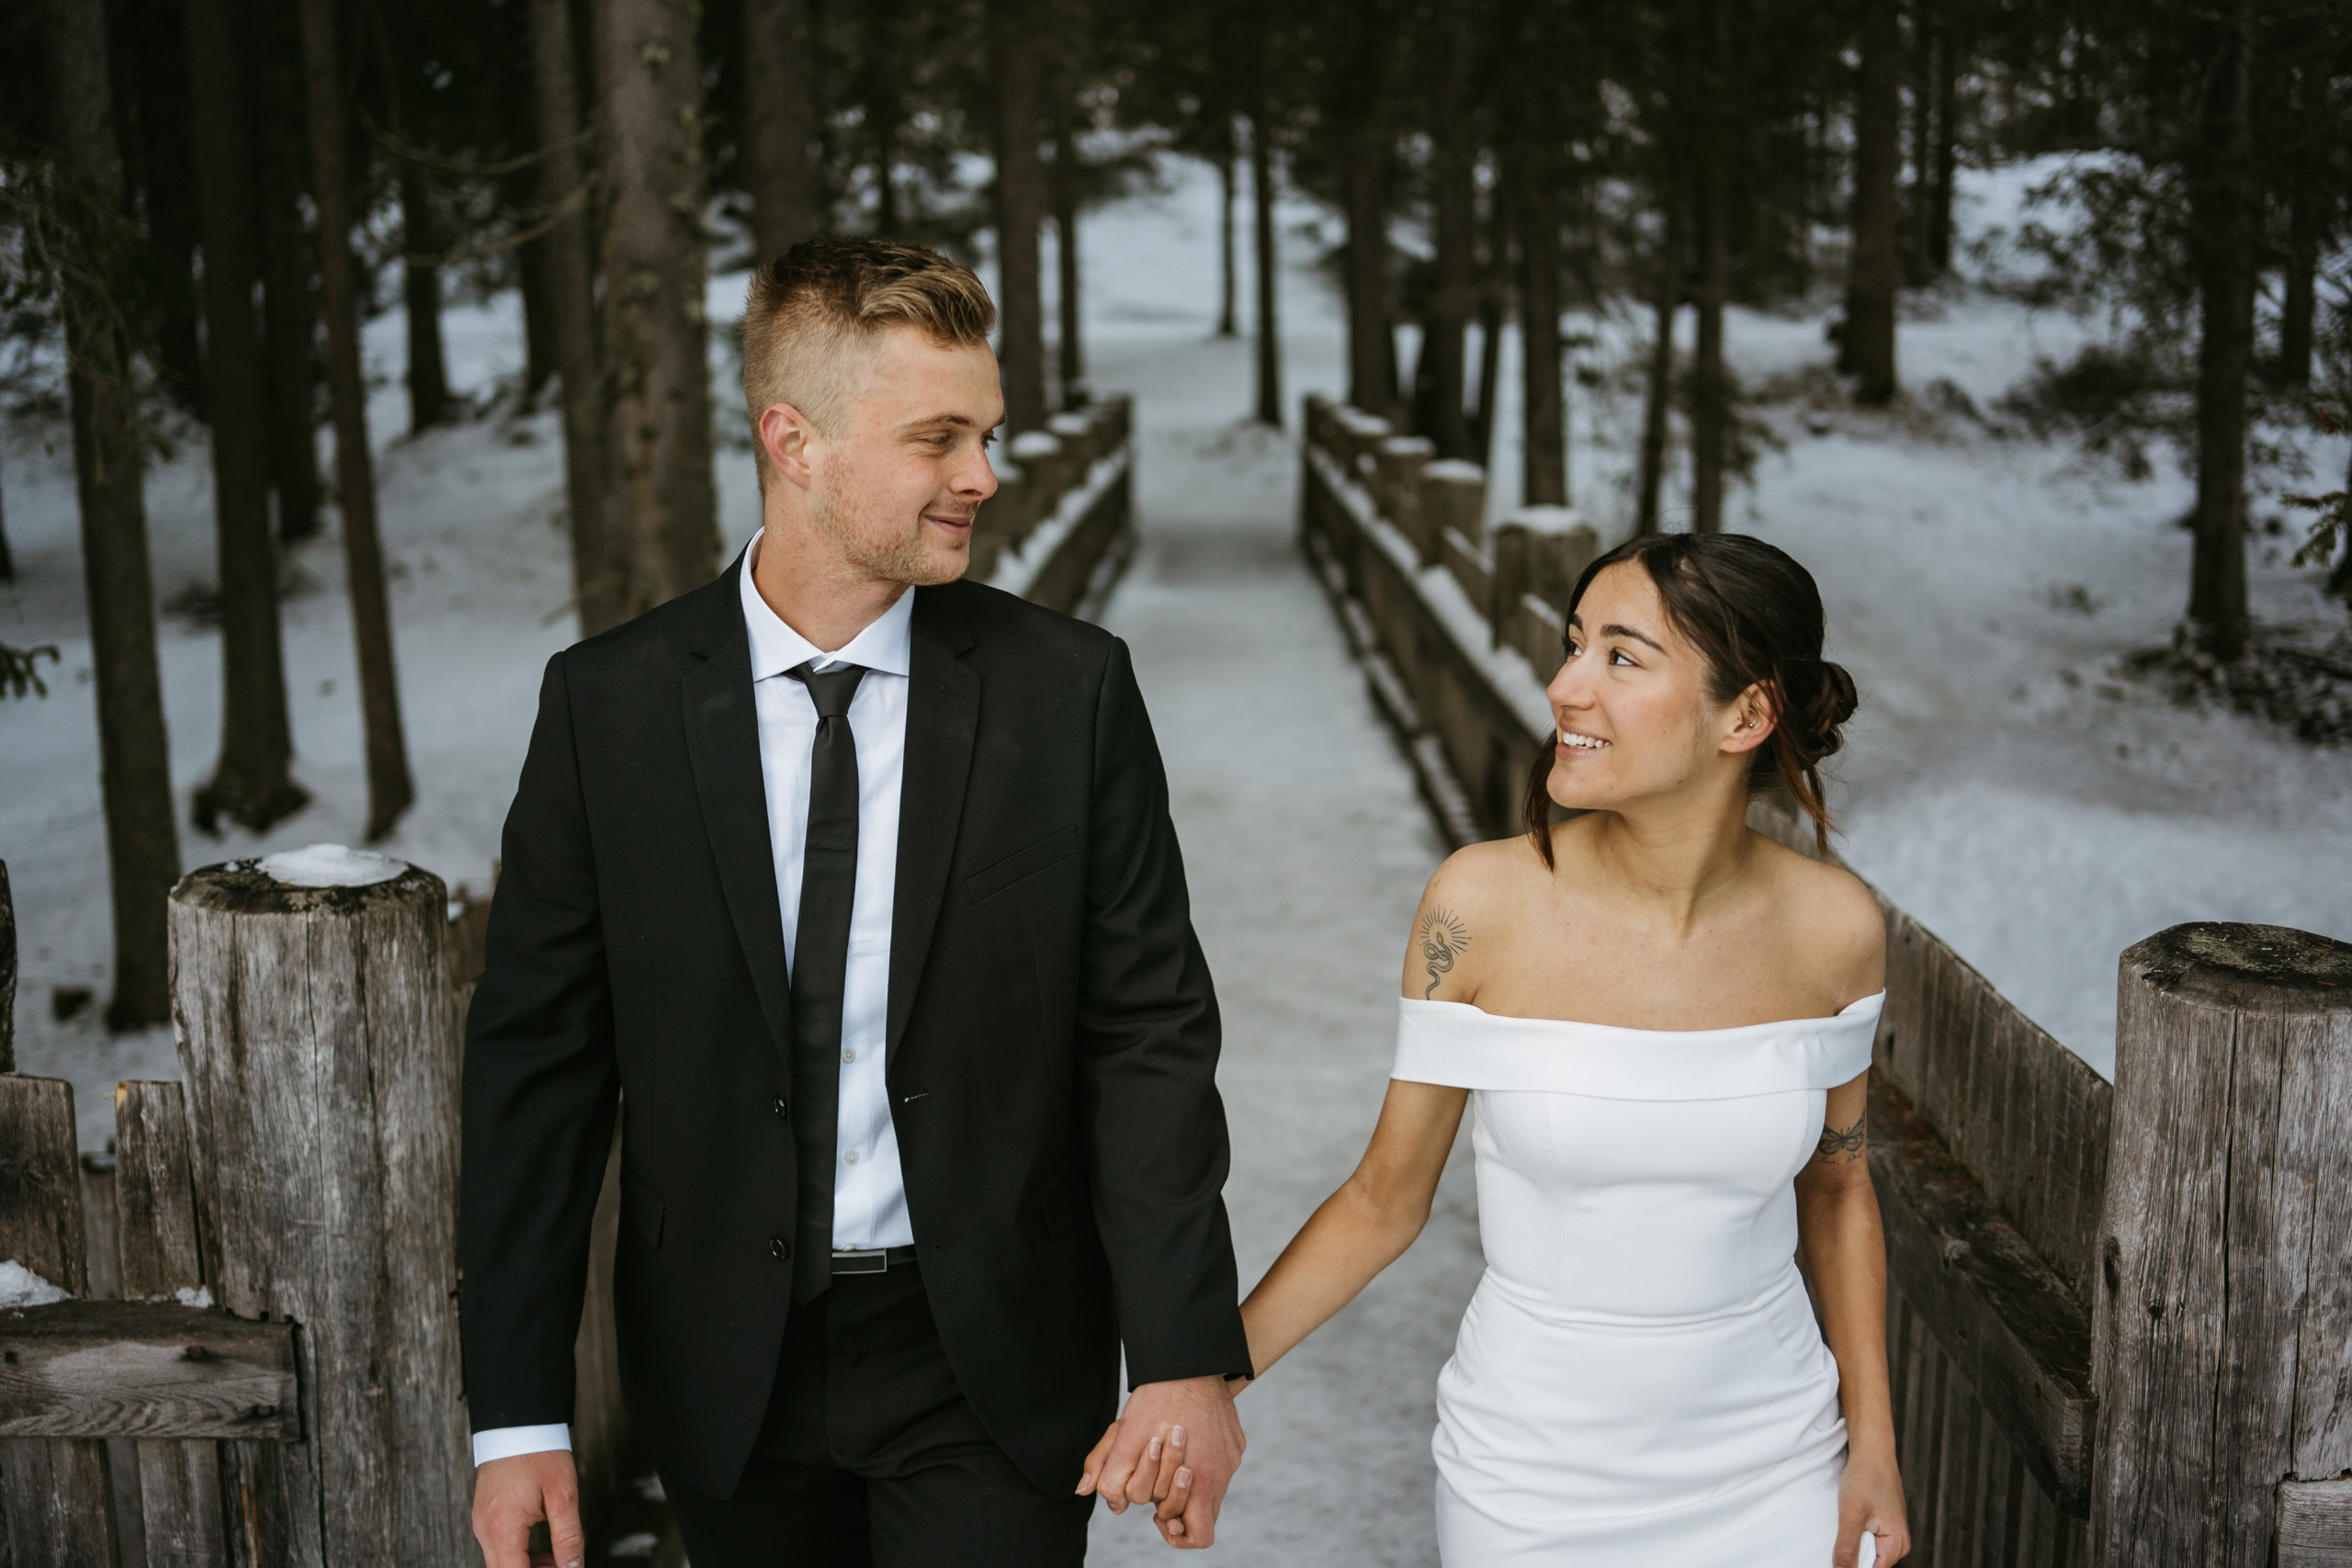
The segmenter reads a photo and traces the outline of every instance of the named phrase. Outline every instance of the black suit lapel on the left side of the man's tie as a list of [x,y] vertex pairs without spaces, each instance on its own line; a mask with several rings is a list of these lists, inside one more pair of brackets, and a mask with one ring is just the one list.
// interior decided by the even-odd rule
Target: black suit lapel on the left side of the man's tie
[[[741,557],[739,557],[741,559]],[[684,675],[687,757],[703,830],[727,889],[743,961],[767,1016],[769,1037],[793,1063],[793,992],[783,961],[783,914],[776,907],[776,853],[767,837],[767,783],[760,771],[760,715],[750,696],[750,635],[743,630],[734,569],[713,585],[715,602],[703,639],[703,663]]]

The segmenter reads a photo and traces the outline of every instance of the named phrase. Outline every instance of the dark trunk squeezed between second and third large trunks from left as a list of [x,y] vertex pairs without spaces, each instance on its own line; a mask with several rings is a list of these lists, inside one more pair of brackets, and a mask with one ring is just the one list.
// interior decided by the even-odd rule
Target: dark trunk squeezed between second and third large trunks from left
[[[273,26],[273,33],[280,28]],[[261,54],[266,134],[261,136],[261,320],[270,360],[270,487],[278,541],[318,534],[318,301],[310,296],[310,237],[301,205],[301,40],[285,28]]]

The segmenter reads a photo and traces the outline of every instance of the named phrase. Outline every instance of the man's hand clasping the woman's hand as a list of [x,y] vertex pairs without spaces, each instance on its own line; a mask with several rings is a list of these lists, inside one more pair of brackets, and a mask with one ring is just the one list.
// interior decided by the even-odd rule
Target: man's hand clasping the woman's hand
[[1087,1455],[1077,1495],[1101,1493],[1112,1514],[1155,1505],[1152,1523],[1171,1547],[1214,1547],[1216,1512],[1247,1446],[1223,1378],[1145,1382]]

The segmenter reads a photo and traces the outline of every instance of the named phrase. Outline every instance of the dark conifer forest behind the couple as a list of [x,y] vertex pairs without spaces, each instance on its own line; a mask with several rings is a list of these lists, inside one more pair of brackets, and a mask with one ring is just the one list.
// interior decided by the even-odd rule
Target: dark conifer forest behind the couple
[[[2004,172],[2016,221],[1969,233],[1962,190]],[[2176,625],[2103,679],[2343,778],[2345,0],[40,0],[0,16],[0,752],[52,679],[89,682],[106,867],[82,875],[111,933],[49,1023],[160,1025],[183,832],[254,842],[313,806],[287,604],[315,548],[348,592],[365,837],[414,809],[402,701],[468,698],[395,658],[388,435],[477,428],[494,454],[553,421],[548,623],[593,635],[739,534],[715,275],[814,233],[971,259],[1011,435],[1091,395],[1087,280],[1150,268],[1134,226],[1089,252],[1089,214],[1202,179],[1202,329],[1247,343],[1235,421],[1296,423],[1303,268],[1334,393],[1491,463],[1498,505],[1566,505],[1583,465],[1604,536],[1745,527],[1740,484],[1849,416],[1971,430],[1994,470],[2039,442],[2122,484],[2178,475],[2145,520],[2150,552],[2190,541]],[[1992,393],[1907,369],[1938,320],[2023,313],[2077,329]],[[468,376],[452,331],[492,317],[522,353]],[[1740,331],[1820,353],[1743,374]],[[61,444],[73,658],[7,550],[7,465]],[[195,451],[214,571],[160,592],[151,477]],[[2112,590],[2053,592],[2096,616]],[[198,780],[167,738],[174,621],[216,644]],[[56,788],[31,748],[0,766]]]

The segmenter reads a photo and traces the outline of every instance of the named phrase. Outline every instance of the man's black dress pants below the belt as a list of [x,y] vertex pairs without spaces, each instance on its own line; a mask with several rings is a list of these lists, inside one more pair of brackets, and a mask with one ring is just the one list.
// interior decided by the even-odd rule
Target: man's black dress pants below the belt
[[661,1486],[694,1568],[1061,1568],[1087,1561],[1094,1512],[1040,1493],[981,1427],[913,1265],[793,1307],[731,1497]]

